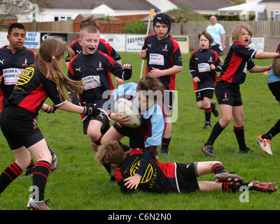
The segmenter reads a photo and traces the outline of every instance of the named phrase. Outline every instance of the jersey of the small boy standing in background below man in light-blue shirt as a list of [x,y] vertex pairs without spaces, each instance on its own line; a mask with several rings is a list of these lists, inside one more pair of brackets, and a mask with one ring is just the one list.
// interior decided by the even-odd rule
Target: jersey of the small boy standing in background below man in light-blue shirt
[[190,73],[193,78],[200,78],[200,82],[193,82],[195,92],[215,90],[216,71],[210,69],[210,64],[216,66],[216,71],[222,70],[222,63],[216,51],[197,49],[190,56]]

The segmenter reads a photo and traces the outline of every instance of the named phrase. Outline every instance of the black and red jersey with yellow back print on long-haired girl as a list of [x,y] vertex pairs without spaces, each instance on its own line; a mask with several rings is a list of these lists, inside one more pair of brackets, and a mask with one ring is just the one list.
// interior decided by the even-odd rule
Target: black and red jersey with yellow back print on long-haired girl
[[48,97],[55,106],[63,104],[59,98],[57,85],[45,78],[36,66],[28,66],[20,74],[7,104],[19,106],[37,116]]

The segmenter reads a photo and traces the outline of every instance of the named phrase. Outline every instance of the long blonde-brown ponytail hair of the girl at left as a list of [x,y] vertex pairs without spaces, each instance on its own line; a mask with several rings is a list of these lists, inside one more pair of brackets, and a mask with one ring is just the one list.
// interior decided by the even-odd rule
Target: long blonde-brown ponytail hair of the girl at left
[[85,84],[83,81],[74,81],[68,78],[60,68],[59,59],[64,57],[64,53],[68,52],[73,57],[74,52],[66,42],[57,37],[45,39],[38,50],[35,57],[35,64],[43,73],[43,76],[51,80],[57,85],[60,100],[69,100],[68,94],[64,91],[64,87],[68,92],[79,94],[83,92]]

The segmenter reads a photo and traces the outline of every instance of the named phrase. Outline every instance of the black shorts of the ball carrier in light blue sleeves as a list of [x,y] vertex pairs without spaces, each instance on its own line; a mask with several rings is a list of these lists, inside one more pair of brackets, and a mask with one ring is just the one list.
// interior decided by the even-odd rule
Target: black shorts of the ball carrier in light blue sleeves
[[135,128],[121,125],[118,122],[114,123],[113,127],[119,134],[130,138],[130,148],[145,148],[145,138]]

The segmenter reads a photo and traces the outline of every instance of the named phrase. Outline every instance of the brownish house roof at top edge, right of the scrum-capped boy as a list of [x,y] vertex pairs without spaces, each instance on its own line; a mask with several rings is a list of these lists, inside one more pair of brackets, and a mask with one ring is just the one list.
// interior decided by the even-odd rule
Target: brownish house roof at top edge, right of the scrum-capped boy
[[230,2],[225,0],[170,0],[179,8],[193,8],[193,10],[217,10],[230,6]]

